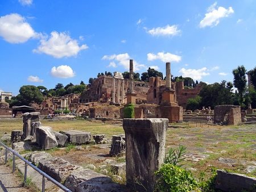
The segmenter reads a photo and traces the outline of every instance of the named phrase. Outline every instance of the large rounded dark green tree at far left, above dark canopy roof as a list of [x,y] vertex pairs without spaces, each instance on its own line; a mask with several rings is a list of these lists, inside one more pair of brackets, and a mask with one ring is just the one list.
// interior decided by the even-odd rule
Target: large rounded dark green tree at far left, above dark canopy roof
[[24,103],[24,105],[28,105],[29,103],[40,104],[43,101],[43,94],[34,85],[24,85],[19,89],[18,100]]

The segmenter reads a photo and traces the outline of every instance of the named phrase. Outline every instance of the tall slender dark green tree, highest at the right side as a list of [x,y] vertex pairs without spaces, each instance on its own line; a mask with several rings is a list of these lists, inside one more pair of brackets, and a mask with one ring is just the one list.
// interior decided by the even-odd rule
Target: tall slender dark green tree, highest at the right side
[[234,76],[234,86],[238,90],[238,95],[240,97],[240,105],[242,105],[243,95],[246,92],[246,69],[243,65],[241,65],[238,66],[236,69],[233,69],[232,73]]

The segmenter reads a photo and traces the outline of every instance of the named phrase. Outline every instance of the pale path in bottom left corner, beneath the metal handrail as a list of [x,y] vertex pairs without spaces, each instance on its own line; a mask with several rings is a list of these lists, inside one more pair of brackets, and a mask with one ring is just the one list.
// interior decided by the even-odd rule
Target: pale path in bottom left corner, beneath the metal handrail
[[10,167],[0,165],[0,191],[29,191],[22,187],[22,182],[15,174],[11,173]]

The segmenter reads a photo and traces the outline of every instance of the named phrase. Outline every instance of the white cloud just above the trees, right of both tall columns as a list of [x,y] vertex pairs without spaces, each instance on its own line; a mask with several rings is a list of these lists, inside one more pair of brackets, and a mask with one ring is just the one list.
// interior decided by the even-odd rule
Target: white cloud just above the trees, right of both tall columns
[[207,73],[207,68],[201,69],[185,69],[182,68],[179,70],[181,76],[183,77],[191,77],[193,80],[201,80],[203,76],[209,76],[210,73]]

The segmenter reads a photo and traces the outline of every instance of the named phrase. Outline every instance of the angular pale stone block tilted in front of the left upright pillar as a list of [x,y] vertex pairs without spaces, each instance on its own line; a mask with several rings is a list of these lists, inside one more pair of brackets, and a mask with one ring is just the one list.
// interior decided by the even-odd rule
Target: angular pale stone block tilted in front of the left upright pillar
[[58,145],[51,127],[36,128],[36,143],[43,150],[54,148]]

